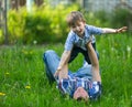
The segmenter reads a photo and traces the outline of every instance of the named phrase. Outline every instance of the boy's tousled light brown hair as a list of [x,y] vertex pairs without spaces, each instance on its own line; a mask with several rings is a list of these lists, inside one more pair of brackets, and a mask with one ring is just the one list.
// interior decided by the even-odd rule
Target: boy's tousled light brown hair
[[66,21],[67,21],[67,24],[69,26],[72,26],[72,25],[75,25],[75,23],[78,22],[78,21],[84,21],[85,22],[85,18],[79,11],[72,11],[67,15]]

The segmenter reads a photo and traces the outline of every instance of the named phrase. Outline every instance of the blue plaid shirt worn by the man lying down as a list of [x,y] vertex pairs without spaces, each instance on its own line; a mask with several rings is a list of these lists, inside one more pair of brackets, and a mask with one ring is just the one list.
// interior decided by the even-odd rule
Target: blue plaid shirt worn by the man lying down
[[78,87],[84,87],[89,95],[91,100],[97,100],[101,96],[101,83],[99,82],[90,82],[86,78],[78,78],[77,79],[69,79],[64,78],[61,79],[57,84],[59,92],[62,95],[69,95],[70,97],[74,96],[75,90]]

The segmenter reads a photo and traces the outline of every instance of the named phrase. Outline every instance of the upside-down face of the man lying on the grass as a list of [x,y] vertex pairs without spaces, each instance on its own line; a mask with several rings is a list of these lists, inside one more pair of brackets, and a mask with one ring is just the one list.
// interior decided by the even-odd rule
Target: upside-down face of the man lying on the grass
[[87,101],[88,98],[88,93],[82,87],[78,87],[74,93],[74,99],[85,99]]

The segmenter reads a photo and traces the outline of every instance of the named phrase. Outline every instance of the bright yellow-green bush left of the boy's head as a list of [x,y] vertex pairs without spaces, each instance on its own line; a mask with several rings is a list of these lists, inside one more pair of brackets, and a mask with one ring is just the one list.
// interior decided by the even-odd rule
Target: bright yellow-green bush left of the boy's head
[[75,4],[69,7],[58,4],[56,8],[48,4],[34,6],[32,13],[29,13],[25,7],[18,11],[10,10],[8,17],[10,43],[16,41],[45,43],[65,40],[68,32],[65,18],[72,10],[78,10],[78,7]]

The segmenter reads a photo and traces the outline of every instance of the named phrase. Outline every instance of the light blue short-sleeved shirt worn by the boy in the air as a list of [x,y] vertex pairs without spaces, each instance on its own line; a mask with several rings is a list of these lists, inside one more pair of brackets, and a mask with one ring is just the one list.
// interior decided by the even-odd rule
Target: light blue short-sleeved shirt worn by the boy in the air
[[70,31],[65,43],[65,51],[72,51],[74,45],[86,51],[86,44],[88,42],[96,42],[94,34],[102,34],[102,29],[86,24],[84,38],[79,38],[75,32]]

